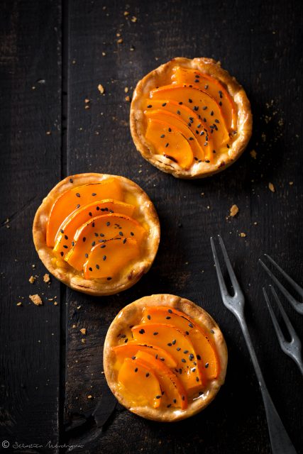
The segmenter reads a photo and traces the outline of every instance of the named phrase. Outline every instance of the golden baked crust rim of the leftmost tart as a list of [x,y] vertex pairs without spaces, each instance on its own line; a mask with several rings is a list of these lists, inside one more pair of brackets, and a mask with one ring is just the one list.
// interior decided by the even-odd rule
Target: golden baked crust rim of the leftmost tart
[[[106,179],[117,179],[122,190],[126,194],[131,194],[131,198],[136,204],[137,217],[141,218],[145,226],[148,226],[148,236],[145,240],[144,254],[141,256],[141,259],[123,268],[123,272],[117,278],[111,280],[96,278],[84,279],[83,272],[77,272],[77,270],[68,265],[64,260],[56,260],[53,254],[53,248],[48,247],[46,243],[48,219],[55,200],[61,194],[73,187],[103,182]],[[148,195],[145,194],[138,184],[130,179],[117,175],[84,173],[63,179],[43,199],[33,221],[33,242],[35,249],[48,271],[68,287],[78,292],[95,296],[116,294],[136,284],[143,274],[150,269],[158,250],[159,240],[160,223],[152,201],[150,201]]]

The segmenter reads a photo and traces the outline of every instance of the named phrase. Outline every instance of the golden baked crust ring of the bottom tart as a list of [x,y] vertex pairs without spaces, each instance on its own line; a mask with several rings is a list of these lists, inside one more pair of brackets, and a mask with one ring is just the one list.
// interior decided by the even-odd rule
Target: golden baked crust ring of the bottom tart
[[[117,381],[118,372],[115,368],[116,353],[112,350],[112,347],[118,345],[119,336],[121,336],[123,331],[130,326],[140,323],[143,309],[152,306],[166,306],[167,309],[177,309],[193,319],[197,323],[197,326],[201,324],[200,326],[209,331],[211,330],[210,332],[212,333],[211,342],[216,349],[216,358],[219,362],[219,375],[214,380],[206,382],[204,393],[197,399],[190,400],[186,409],[173,408],[172,406],[170,408],[162,408],[162,406],[161,408],[153,408],[149,405],[134,406],[132,401],[125,394],[122,394],[119,388]],[[143,418],[162,422],[179,421],[193,416],[204,409],[216,397],[221,385],[224,384],[227,359],[228,353],[224,336],[214,319],[192,301],[172,294],[155,294],[128,304],[128,306],[119,312],[114,321],[112,321],[104,342],[104,373],[107,383],[116,396],[116,399],[129,411],[143,416]],[[140,391],[138,390],[138,392]]]

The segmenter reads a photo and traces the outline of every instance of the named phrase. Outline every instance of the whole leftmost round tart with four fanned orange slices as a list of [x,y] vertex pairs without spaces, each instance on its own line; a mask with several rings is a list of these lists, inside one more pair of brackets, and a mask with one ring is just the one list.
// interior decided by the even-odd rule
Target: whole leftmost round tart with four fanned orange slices
[[48,271],[96,296],[136,284],[150,269],[159,240],[153,203],[138,184],[117,175],[63,179],[33,221],[35,249]]

